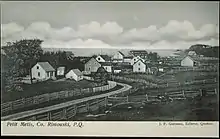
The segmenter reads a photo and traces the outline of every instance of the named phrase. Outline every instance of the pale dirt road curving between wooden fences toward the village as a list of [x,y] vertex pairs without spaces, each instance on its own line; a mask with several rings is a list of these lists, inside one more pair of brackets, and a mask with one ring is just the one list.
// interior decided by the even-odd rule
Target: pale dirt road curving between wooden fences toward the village
[[48,107],[39,108],[39,109],[35,109],[35,110],[29,110],[29,111],[24,111],[24,112],[20,112],[20,113],[15,113],[15,114],[12,114],[12,115],[7,115],[7,116],[4,116],[4,117],[1,117],[1,120],[2,121],[18,120],[18,119],[25,118],[25,117],[28,117],[28,116],[33,116],[33,115],[36,115],[36,114],[49,112],[49,111],[56,110],[56,109],[65,108],[65,107],[68,107],[68,106],[71,106],[71,105],[74,105],[74,104],[78,104],[78,103],[82,103],[82,102],[86,102],[86,101],[89,101],[89,100],[108,97],[108,96],[111,96],[111,95],[116,95],[116,94],[128,91],[129,89],[132,88],[132,86],[127,85],[127,84],[123,84],[123,83],[117,83],[117,84],[123,86],[123,88],[121,88],[119,90],[116,90],[116,91],[109,92],[109,93],[101,94],[101,95],[86,97],[86,98],[82,98],[82,99],[77,99],[77,100],[72,100],[72,101],[56,104],[56,105],[53,105],[53,106],[48,106]]

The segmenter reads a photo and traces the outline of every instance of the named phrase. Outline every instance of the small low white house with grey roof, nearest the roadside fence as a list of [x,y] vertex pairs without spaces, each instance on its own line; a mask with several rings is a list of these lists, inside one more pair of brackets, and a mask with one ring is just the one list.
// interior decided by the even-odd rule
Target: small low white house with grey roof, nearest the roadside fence
[[75,81],[80,81],[83,79],[83,74],[79,69],[70,70],[66,76],[67,79],[74,79]]

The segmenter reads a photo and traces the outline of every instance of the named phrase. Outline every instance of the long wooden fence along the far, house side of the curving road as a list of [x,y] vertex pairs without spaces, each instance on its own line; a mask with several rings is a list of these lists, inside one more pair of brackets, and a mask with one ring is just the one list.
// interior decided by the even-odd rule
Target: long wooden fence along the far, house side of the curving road
[[101,87],[66,90],[66,91],[42,94],[42,95],[33,96],[29,98],[22,98],[19,100],[1,104],[1,113],[13,111],[16,109],[25,108],[25,107],[29,107],[29,106],[33,106],[36,104],[49,102],[49,101],[54,101],[58,99],[79,97],[79,96],[84,96],[84,95],[91,94],[91,93],[107,91],[107,90],[114,88],[115,86],[116,86],[116,82],[108,81],[108,85],[104,85]]

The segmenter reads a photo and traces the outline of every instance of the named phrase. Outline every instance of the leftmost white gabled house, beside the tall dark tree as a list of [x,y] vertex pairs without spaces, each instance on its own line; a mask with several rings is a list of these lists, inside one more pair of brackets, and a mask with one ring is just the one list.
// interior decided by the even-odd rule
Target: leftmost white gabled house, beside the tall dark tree
[[31,68],[31,75],[36,80],[55,79],[55,69],[48,62],[37,62]]

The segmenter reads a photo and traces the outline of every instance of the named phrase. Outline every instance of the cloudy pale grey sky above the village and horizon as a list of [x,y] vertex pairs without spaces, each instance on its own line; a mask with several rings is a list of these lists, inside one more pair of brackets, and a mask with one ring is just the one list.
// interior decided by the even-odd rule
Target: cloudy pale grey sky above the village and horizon
[[[12,8],[13,7],[13,8]],[[43,48],[187,49],[219,45],[219,2],[1,2],[1,42]]]

